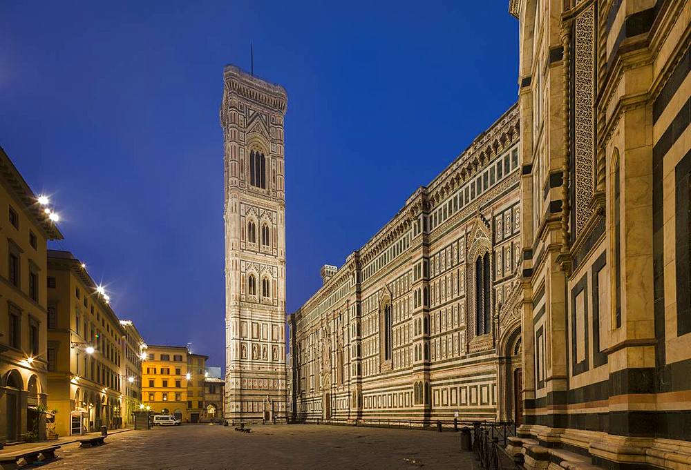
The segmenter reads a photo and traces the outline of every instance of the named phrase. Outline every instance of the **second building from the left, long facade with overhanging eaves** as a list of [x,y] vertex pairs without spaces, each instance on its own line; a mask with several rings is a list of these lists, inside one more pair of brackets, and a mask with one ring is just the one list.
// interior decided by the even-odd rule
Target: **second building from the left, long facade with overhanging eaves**
[[122,426],[122,338],[126,334],[86,265],[48,251],[48,408],[59,435]]

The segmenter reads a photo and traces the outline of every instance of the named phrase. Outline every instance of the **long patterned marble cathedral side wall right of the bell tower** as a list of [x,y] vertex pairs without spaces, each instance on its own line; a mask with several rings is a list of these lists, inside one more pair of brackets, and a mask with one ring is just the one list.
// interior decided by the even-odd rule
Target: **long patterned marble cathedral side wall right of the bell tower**
[[288,318],[290,418],[521,415],[513,106]]

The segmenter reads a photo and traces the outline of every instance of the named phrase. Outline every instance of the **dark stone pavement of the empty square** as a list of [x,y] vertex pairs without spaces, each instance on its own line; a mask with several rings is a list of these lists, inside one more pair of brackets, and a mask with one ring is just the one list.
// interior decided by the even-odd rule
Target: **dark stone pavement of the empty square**
[[111,435],[108,444],[66,444],[42,469],[480,469],[460,433],[408,429],[187,424]]

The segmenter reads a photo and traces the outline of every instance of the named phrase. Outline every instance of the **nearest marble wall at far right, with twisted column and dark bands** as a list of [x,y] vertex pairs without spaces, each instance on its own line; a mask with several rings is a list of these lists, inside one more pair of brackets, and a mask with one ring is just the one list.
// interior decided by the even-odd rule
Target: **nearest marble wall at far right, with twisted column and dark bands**
[[511,0],[527,468],[691,468],[691,2]]

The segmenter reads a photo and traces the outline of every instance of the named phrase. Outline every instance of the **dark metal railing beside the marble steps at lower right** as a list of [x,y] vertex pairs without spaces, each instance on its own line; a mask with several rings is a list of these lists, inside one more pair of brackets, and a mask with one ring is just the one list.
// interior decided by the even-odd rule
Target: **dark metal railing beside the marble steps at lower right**
[[515,435],[513,422],[474,422],[473,449],[484,470],[522,470],[522,461],[504,450],[507,439]]

